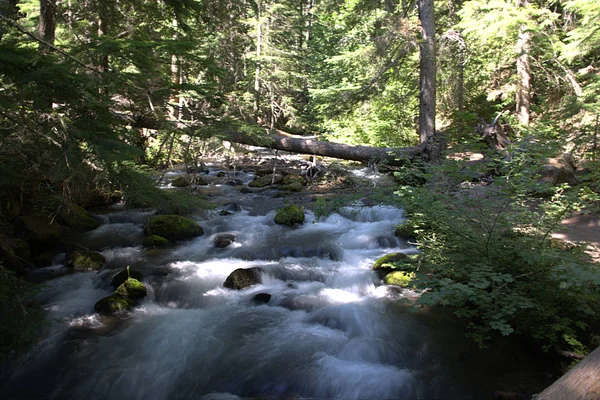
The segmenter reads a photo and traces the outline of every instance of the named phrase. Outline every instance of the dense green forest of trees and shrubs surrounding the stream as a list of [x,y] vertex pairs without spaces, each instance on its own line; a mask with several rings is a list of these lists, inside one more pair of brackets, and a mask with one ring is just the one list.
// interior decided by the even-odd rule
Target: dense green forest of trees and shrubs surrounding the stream
[[3,359],[44,330],[28,276],[61,230],[206,207],[156,177],[236,143],[392,174],[416,306],[481,346],[600,346],[597,264],[551,235],[599,211],[597,0],[0,0],[0,81]]

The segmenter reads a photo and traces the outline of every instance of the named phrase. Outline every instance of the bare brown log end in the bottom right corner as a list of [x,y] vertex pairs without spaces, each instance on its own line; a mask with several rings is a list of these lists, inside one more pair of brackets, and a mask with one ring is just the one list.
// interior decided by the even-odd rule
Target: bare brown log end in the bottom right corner
[[598,399],[600,399],[600,347],[537,397],[537,400]]

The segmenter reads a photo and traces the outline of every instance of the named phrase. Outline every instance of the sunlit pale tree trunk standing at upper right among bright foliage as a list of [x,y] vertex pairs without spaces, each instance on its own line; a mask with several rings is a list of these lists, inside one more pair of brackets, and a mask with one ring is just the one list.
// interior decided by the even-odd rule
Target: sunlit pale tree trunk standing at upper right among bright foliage
[[[517,0],[518,7],[527,7],[529,0]],[[529,107],[531,105],[531,67],[529,65],[529,52],[531,50],[531,32],[527,26],[519,28],[517,41],[517,119],[524,125],[529,125]]]

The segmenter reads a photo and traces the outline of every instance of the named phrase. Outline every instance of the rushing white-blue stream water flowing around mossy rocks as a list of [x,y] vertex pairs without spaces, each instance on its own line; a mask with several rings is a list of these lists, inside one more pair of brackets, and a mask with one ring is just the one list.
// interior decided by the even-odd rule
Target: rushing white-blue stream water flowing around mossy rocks
[[[357,205],[319,219],[307,210],[306,222],[289,228],[273,221],[286,199],[220,190],[221,200],[235,202],[195,215],[206,234],[171,248],[141,246],[149,210],[107,213],[104,225],[78,238],[101,251],[107,265],[46,282],[40,301],[50,332],[0,395],[482,398],[482,385],[465,384],[471,372],[457,372],[458,358],[439,343],[439,331],[402,304],[417,294],[380,285],[371,271],[384,254],[415,252],[393,235],[402,210]],[[220,215],[223,208],[232,213]],[[218,233],[235,235],[235,242],[215,248]],[[111,278],[127,265],[143,274],[149,295],[127,318],[102,318],[94,303],[111,294]],[[233,270],[250,267],[265,271],[262,284],[223,288]],[[272,297],[256,304],[258,293]]]

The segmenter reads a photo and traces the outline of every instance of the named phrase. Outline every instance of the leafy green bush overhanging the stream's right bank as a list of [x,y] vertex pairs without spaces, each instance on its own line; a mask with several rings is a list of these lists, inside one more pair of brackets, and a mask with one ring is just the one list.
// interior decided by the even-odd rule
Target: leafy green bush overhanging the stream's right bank
[[[493,160],[479,171],[447,161],[432,167],[426,186],[396,192],[419,227],[418,282],[427,290],[417,305],[450,307],[482,345],[493,332],[525,334],[546,349],[597,345],[597,266],[581,248],[563,250],[550,239],[577,197],[556,188],[530,201],[535,167],[516,154],[500,171]],[[500,174],[492,185],[472,182],[490,170]]]

